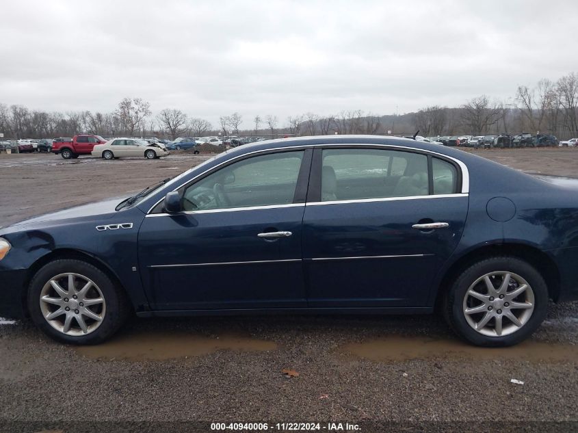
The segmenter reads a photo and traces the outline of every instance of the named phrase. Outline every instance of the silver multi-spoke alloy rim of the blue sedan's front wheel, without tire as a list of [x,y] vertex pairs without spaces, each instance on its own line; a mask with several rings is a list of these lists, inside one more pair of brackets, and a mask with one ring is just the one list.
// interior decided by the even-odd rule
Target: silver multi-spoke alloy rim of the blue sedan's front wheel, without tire
[[77,337],[94,332],[106,315],[103,292],[94,281],[72,272],[50,278],[40,291],[40,311],[50,326]]

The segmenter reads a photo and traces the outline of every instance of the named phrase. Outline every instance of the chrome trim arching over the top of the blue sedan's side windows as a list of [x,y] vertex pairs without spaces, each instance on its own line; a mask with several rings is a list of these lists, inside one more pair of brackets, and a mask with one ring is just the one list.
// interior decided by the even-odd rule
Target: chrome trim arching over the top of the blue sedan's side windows
[[[205,170],[203,172],[200,172],[199,174],[194,176],[194,178],[189,179],[188,181],[186,181],[184,183],[181,183],[178,187],[174,187],[172,189],[172,191],[176,191],[177,189],[187,185],[188,183],[194,182],[200,176],[207,174],[208,172],[211,172],[212,170],[216,170],[220,166],[223,166],[224,164],[233,163],[237,159],[247,157],[248,155],[255,155],[258,153],[267,153],[267,152],[272,152],[274,150],[295,150],[295,151],[298,151],[298,150],[304,150],[306,148],[323,148],[326,146],[345,146],[345,147],[349,146],[349,147],[353,147],[353,148],[359,148],[359,147],[363,147],[363,146],[374,146],[374,147],[390,148],[391,150],[396,150],[396,149],[411,150],[411,151],[417,150],[418,152],[427,153],[428,155],[437,155],[437,156],[440,156],[443,158],[451,159],[451,161],[454,161],[455,163],[457,163],[458,166],[460,166],[460,170],[462,170],[462,192],[456,193],[456,194],[468,194],[470,191],[470,176],[469,176],[468,167],[466,166],[465,163],[463,163],[459,159],[456,159],[454,157],[450,157],[448,155],[444,155],[443,153],[434,152],[434,150],[425,150],[425,149],[420,149],[420,148],[415,148],[415,147],[410,147],[410,146],[398,146],[397,144],[380,144],[380,143],[324,143],[324,144],[318,143],[318,144],[303,144],[303,145],[296,145],[296,146],[282,146],[282,147],[276,147],[276,148],[254,150],[253,152],[243,153],[237,157],[227,159],[226,161],[222,161],[221,163],[218,163],[216,166],[208,168],[207,170]],[[194,168],[192,168],[191,170],[194,170]],[[455,196],[456,194],[447,194],[447,195],[448,196]],[[155,204],[148,209],[148,211],[146,212],[147,216],[150,214],[150,212],[153,211],[153,209],[155,209],[155,207],[162,200],[163,200],[163,198],[161,198],[160,200],[155,202]],[[146,201],[146,198],[144,199],[144,201]],[[235,208],[235,209],[244,209],[244,208]],[[165,215],[165,214],[158,214],[157,213],[155,215]]]

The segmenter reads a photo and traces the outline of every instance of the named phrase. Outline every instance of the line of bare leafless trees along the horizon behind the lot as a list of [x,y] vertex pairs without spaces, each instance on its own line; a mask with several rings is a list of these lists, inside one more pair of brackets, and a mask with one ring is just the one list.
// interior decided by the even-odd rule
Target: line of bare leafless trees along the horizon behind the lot
[[[23,105],[0,103],[0,132],[4,137],[68,137],[76,133],[104,136],[156,135],[174,140],[188,135],[326,135],[326,134],[409,134],[485,135],[489,133],[555,133],[578,131],[578,74],[570,73],[536,86],[518,86],[505,101],[477,96],[460,107],[434,105],[403,115],[378,115],[361,109],[342,110],[321,116],[312,112],[288,116],[285,122],[273,114],[254,116],[244,122],[239,112],[220,116],[219,124],[188,116],[181,109],[166,108],[153,116],[150,103],[124,98],[114,111],[50,112],[29,110]],[[242,128],[244,126],[244,128]]]

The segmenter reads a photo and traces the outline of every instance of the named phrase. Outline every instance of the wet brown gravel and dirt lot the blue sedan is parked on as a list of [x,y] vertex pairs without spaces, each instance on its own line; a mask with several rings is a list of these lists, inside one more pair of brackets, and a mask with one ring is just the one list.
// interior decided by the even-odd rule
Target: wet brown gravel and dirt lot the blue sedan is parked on
[[[578,177],[572,148],[476,153]],[[205,159],[0,155],[0,224],[136,192]],[[578,303],[552,305],[530,341],[492,350],[460,343],[436,316],[133,319],[98,347],[53,343],[27,322],[0,324],[0,432],[193,420],[409,421],[439,431],[497,421],[514,431],[527,428],[514,421],[578,421],[577,344]],[[534,428],[575,431],[578,423]]]

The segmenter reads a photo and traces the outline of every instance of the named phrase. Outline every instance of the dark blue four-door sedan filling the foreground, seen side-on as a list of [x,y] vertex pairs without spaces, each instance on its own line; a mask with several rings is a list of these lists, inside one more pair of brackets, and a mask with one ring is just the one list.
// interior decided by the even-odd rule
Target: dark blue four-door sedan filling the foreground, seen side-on
[[65,343],[139,317],[432,313],[527,338],[578,299],[578,194],[397,137],[269,140],[0,229],[0,316]]

